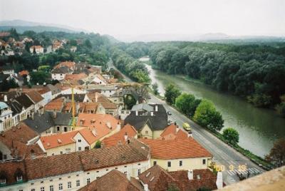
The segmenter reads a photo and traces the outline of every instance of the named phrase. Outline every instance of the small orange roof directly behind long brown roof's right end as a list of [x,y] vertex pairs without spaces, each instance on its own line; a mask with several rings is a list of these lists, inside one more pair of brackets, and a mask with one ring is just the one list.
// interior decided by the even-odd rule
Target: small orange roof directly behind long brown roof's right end
[[117,145],[119,142],[122,144],[126,143],[125,135],[127,135],[127,138],[134,138],[135,135],[137,135],[137,131],[132,125],[127,124],[118,133],[104,138],[102,143],[104,143],[106,147]]

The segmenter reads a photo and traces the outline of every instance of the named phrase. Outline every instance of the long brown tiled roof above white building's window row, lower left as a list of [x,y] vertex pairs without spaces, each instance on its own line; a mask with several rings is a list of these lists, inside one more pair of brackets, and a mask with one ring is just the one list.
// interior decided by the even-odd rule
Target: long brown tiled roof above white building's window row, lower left
[[26,174],[28,180],[35,180],[82,170],[88,171],[145,161],[147,155],[149,155],[149,148],[146,145],[138,140],[131,140],[128,145],[25,160]]

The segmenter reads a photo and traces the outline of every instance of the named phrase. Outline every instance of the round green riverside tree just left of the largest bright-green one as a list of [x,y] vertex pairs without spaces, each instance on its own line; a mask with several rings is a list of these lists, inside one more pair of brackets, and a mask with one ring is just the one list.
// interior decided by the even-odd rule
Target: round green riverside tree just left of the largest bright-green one
[[192,94],[182,93],[176,98],[175,105],[182,113],[185,113],[192,118],[200,102],[201,100],[195,99],[195,96]]

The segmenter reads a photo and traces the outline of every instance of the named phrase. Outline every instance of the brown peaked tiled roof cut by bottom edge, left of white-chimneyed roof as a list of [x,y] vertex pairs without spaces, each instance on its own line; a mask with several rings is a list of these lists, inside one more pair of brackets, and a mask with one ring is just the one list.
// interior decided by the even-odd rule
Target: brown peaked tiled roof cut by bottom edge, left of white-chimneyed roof
[[90,182],[90,184],[82,187],[81,191],[106,191],[106,190],[120,190],[120,191],[140,191],[143,190],[139,180],[131,177],[130,180],[125,174],[118,170],[112,170],[100,177],[98,180]]

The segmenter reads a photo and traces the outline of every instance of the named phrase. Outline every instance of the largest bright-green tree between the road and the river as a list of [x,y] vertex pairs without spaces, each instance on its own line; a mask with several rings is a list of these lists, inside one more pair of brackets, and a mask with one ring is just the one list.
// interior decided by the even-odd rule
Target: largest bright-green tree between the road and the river
[[196,123],[210,130],[221,130],[224,126],[224,120],[214,104],[209,100],[202,100],[199,103],[193,117]]

